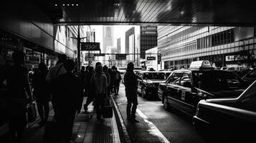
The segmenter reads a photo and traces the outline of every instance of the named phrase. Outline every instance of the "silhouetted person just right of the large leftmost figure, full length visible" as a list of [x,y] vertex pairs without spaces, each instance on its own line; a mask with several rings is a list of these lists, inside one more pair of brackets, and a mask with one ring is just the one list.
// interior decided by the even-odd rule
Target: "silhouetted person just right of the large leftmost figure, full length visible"
[[38,70],[34,72],[32,84],[34,85],[34,96],[37,101],[37,110],[41,118],[39,124],[43,125],[47,122],[49,115],[49,83],[46,81],[48,69],[44,62],[38,66]]

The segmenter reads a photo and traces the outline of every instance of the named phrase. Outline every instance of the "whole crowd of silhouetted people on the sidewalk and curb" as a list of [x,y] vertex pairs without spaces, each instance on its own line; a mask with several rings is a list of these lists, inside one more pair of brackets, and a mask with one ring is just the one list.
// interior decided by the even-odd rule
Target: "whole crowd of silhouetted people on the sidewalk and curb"
[[[9,128],[15,142],[22,142],[22,134],[27,124],[26,106],[37,102],[37,110],[44,126],[49,117],[49,102],[52,102],[54,120],[60,127],[62,142],[70,142],[75,114],[80,114],[81,107],[87,113],[87,106],[93,102],[98,122],[104,122],[104,99],[110,94],[118,95],[121,81],[120,72],[115,66],[109,68],[100,62],[82,66],[80,71],[75,70],[75,62],[67,59],[65,54],[58,56],[55,66],[48,69],[44,62],[38,65],[32,77],[32,88],[24,67],[24,52],[14,51],[12,55],[14,65],[5,69],[4,78],[8,94]],[[137,100],[137,77],[133,72],[133,63],[128,64],[124,76],[125,94],[128,99],[127,117],[131,122],[135,119]],[[33,92],[32,92],[33,91]],[[87,101],[82,105],[83,97]],[[133,105],[133,107],[131,107]]]

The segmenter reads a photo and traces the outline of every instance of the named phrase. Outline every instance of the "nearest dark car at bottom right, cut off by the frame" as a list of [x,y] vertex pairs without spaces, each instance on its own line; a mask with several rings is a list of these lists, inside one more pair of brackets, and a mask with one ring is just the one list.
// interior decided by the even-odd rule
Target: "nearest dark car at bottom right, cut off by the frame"
[[209,139],[252,142],[256,129],[255,89],[256,82],[253,82],[237,98],[201,100],[193,117],[196,131]]

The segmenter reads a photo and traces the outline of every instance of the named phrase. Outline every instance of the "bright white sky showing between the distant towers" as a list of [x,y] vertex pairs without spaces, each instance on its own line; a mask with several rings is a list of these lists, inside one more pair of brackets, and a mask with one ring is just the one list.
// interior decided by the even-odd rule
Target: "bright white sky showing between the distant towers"
[[[137,37],[140,34],[140,26],[138,25],[115,25],[114,27],[114,46],[116,47],[117,39],[121,38],[121,53],[125,53],[125,31],[135,27],[135,36]],[[95,29],[95,41],[100,42],[100,45],[103,45],[103,26],[90,26],[91,29]]]

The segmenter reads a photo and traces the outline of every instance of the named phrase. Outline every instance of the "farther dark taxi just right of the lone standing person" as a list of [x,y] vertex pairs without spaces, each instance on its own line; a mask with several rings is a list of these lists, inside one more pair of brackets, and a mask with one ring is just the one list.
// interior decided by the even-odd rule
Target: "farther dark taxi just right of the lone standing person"
[[158,84],[167,77],[161,71],[138,71],[138,93],[141,97],[157,97]]

